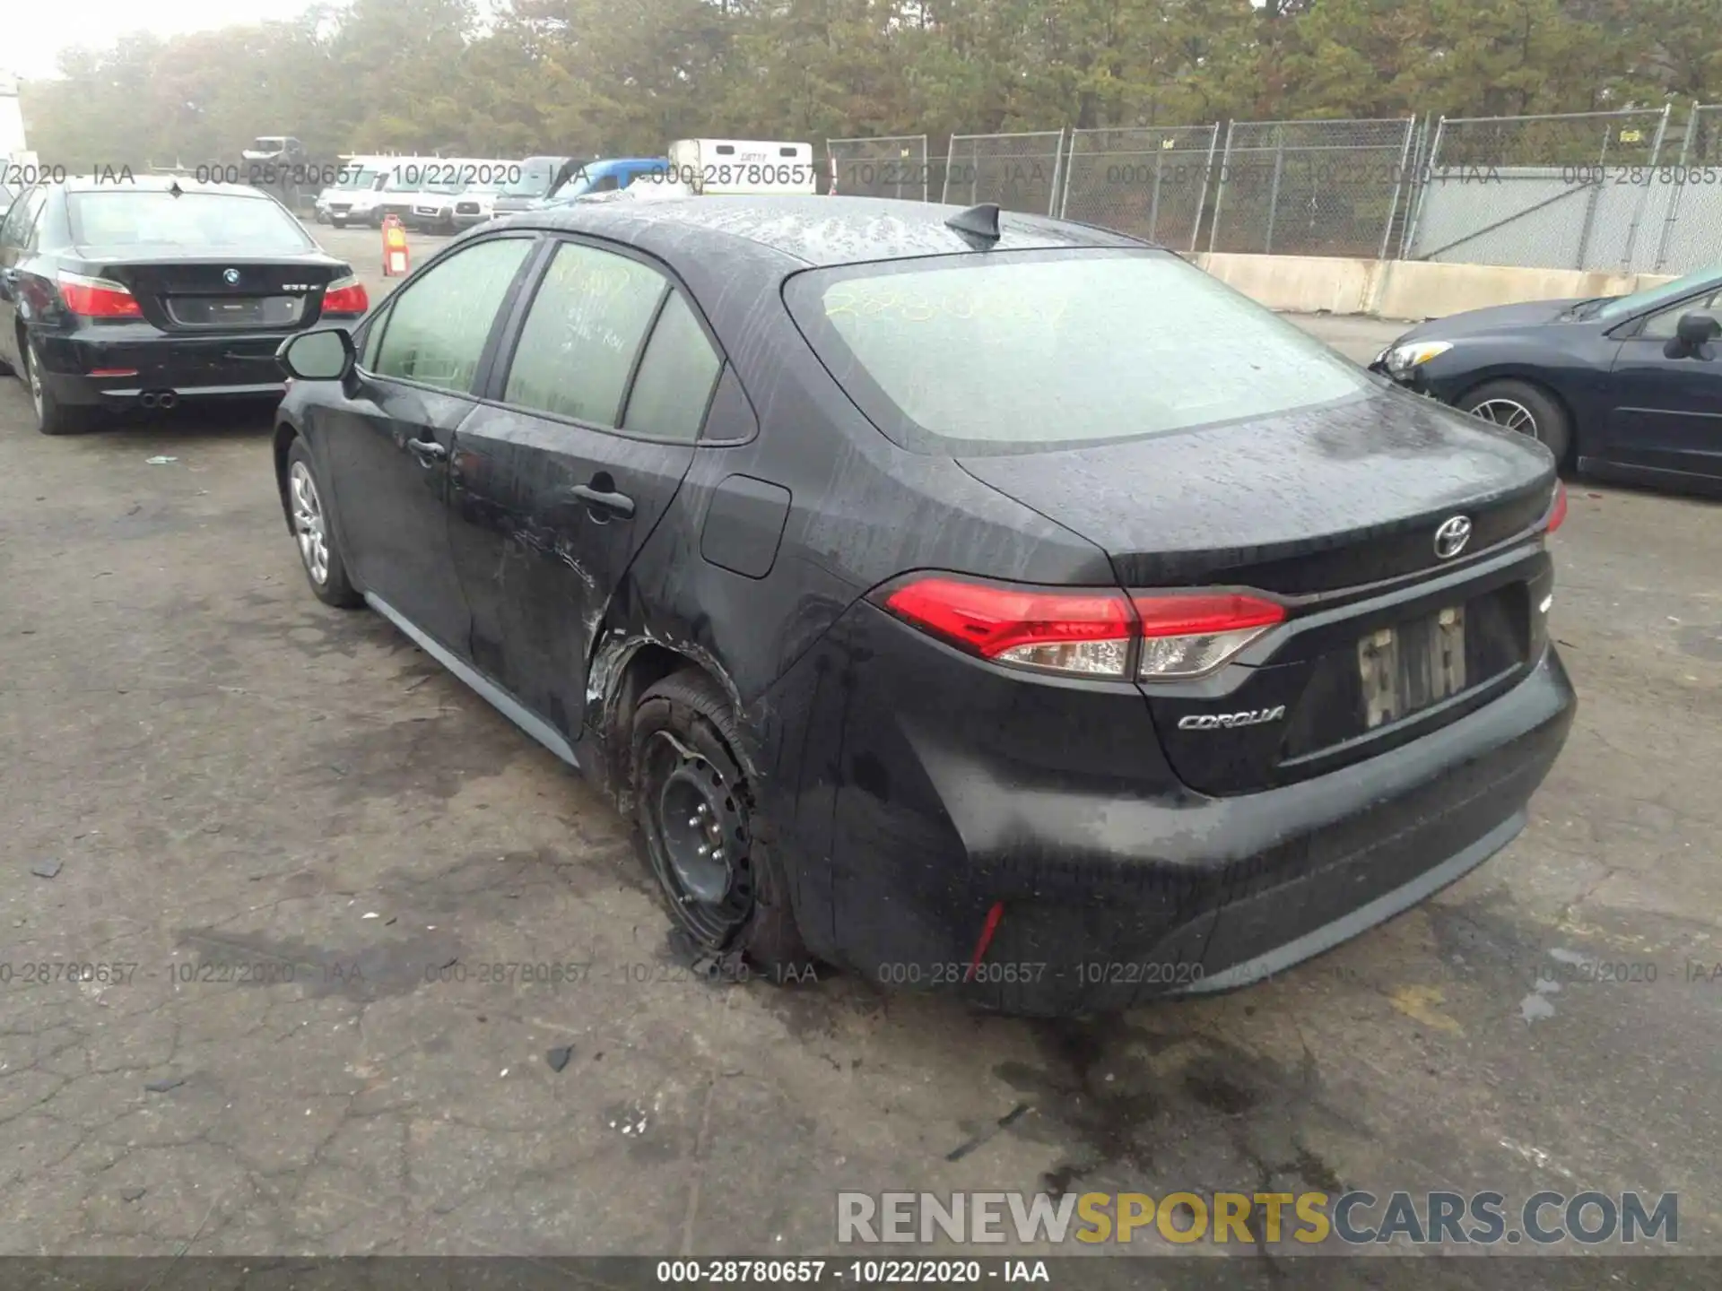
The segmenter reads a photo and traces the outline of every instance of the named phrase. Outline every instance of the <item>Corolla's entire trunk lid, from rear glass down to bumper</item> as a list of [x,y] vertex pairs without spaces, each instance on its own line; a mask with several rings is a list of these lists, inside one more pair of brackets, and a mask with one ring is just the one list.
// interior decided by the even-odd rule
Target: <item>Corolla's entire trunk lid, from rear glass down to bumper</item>
[[[1512,539],[1548,513],[1553,460],[1417,396],[961,465],[1106,549],[1131,594],[1292,601],[1219,671],[1138,682],[1168,761],[1204,794],[1419,738],[1510,687],[1546,642],[1548,554]],[[1441,556],[1436,530],[1453,516],[1471,537]]]

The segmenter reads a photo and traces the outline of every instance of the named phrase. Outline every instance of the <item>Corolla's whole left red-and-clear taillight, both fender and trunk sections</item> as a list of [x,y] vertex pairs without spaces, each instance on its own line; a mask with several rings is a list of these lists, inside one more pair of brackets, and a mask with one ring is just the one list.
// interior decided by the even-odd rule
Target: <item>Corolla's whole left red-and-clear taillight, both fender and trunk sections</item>
[[904,621],[982,659],[1066,676],[1168,682],[1214,671],[1285,620],[1235,592],[1126,597],[926,577],[883,597]]

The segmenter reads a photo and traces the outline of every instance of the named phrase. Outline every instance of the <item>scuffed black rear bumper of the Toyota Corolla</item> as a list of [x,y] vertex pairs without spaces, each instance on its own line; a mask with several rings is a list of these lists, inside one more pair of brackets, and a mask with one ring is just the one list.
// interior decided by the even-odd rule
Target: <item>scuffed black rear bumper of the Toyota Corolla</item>
[[[940,730],[935,695],[973,695],[963,671],[985,666],[871,608],[842,628],[832,644],[868,663],[846,666],[842,699],[815,701],[813,716],[840,723],[839,759],[780,768],[801,787],[773,812],[796,823],[802,931],[880,985],[1021,1014],[1247,986],[1421,902],[1524,828],[1576,709],[1550,649],[1512,690],[1415,742],[1216,799],[1157,769],[1157,751],[1069,752],[1088,718],[1033,701],[1016,716],[1045,756],[1002,728]],[[1155,744],[1147,721],[1142,735]]]

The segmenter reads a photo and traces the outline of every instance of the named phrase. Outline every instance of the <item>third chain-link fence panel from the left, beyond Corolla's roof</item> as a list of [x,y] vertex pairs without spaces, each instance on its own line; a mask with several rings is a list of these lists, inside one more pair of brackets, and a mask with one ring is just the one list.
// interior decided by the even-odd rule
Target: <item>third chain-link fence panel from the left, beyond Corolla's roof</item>
[[1195,250],[1219,122],[1071,131],[1059,215]]

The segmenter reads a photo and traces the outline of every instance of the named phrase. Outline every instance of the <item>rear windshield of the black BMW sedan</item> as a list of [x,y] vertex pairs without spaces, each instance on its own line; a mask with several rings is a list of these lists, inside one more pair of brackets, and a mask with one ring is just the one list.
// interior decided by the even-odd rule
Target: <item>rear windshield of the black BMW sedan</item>
[[308,251],[315,243],[282,207],[238,193],[181,193],[115,188],[67,196],[72,241],[83,246],[167,243],[241,246],[248,251]]

